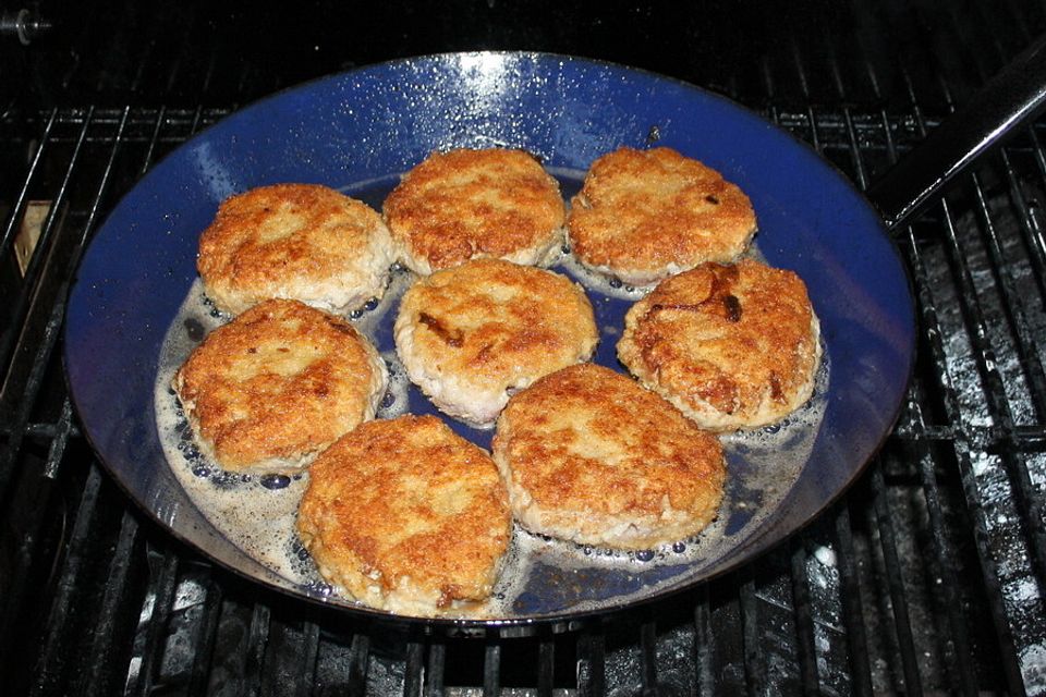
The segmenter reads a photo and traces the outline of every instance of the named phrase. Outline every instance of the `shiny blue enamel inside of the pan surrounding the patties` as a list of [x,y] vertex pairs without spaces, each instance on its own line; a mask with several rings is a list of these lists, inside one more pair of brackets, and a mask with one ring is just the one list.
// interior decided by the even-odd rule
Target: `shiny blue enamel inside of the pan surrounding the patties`
[[[583,591],[560,583],[559,572],[543,576],[538,564],[506,620],[555,617],[579,592],[595,609],[610,608],[665,574],[677,580],[658,592],[751,559],[841,493],[891,427],[913,354],[908,280],[875,212],[807,147],[725,99],[616,65],[528,53],[388,63],[279,94],[180,147],[112,211],[72,291],[65,364],[87,437],[121,486],[178,537],[302,595],[211,528],[157,442],[157,356],[195,278],[198,234],[218,203],[277,182],[349,193],[387,188],[429,151],[449,147],[522,147],[548,167],[584,170],[621,145],[645,147],[653,126],[657,145],[701,159],[749,194],[761,250],[806,281],[831,359],[825,418],[784,503],[721,559],[572,584]],[[617,317],[623,307],[597,305],[597,311]],[[604,335],[601,362],[613,362],[613,342]]]

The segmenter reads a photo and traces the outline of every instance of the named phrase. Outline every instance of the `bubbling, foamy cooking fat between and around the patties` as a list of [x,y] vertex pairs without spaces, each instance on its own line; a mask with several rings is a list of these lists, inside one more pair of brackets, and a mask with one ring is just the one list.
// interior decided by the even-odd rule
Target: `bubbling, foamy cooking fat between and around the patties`
[[[569,200],[584,173],[551,171]],[[385,196],[398,181],[394,176],[368,182],[365,188],[346,186],[343,191],[380,209]],[[754,247],[750,254],[759,256]],[[588,294],[600,332],[594,360],[622,370],[615,346],[624,326],[624,314],[648,289],[632,289],[588,272],[565,248],[551,268],[573,278]],[[381,301],[372,301],[349,316],[356,329],[374,342],[389,368],[389,388],[376,418],[405,413],[435,414],[458,433],[489,450],[492,431],[470,428],[439,413],[410,384],[396,355],[392,323],[400,297],[415,278],[410,271],[394,269]],[[319,577],[294,530],[297,504],[308,475],[223,472],[199,452],[171,389],[174,372],[196,345],[228,319],[207,302],[197,279],[165,337],[154,400],[157,430],[167,462],[204,516],[236,547],[300,585],[303,591],[337,597],[338,591]],[[494,598],[482,616],[510,619],[596,610],[628,602],[700,573],[734,550],[777,510],[808,460],[825,414],[829,374],[829,356],[825,353],[814,396],[806,405],[781,424],[721,437],[728,467],[726,492],[719,516],[701,535],[658,549],[617,552],[532,535],[515,526]],[[557,586],[564,589],[559,591]],[[592,587],[591,596],[585,595],[586,586]],[[608,597],[607,588],[620,592],[611,590]],[[352,601],[346,598],[344,602]]]

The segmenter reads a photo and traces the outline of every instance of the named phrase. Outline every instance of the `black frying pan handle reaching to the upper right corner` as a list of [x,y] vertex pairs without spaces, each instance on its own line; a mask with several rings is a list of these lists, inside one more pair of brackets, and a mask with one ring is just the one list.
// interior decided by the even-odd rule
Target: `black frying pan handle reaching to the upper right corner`
[[1046,107],[1046,35],[931,132],[865,194],[890,230],[909,222],[999,138]]

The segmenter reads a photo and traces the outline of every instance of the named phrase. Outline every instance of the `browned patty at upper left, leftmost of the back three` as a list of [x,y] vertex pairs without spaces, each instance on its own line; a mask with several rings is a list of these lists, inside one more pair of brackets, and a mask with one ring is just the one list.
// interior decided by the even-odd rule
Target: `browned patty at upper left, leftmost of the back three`
[[268,298],[345,311],[385,293],[391,241],[369,206],[313,184],[232,196],[199,239],[204,290],[239,314]]

